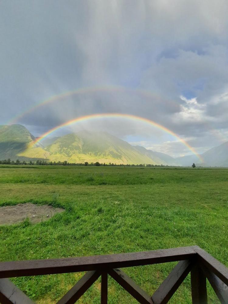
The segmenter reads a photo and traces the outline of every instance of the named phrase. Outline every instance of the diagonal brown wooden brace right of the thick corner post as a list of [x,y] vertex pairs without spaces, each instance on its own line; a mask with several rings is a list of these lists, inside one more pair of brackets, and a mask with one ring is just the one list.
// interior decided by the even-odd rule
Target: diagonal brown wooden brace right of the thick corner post
[[222,304],[228,303],[228,286],[223,283],[214,273],[209,271],[205,266],[201,265],[202,271],[206,275],[209,283],[214,289],[217,297]]

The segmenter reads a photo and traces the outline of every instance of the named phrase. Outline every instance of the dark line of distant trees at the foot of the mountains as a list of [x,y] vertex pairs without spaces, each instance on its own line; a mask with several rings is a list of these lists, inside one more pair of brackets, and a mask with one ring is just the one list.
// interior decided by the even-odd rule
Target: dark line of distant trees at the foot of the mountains
[[114,164],[114,163],[99,163],[96,161],[95,163],[88,163],[87,161],[84,163],[69,163],[67,161],[20,161],[17,159],[16,161],[12,161],[10,158],[4,159],[0,161],[0,164],[3,165],[53,165],[53,166],[118,166],[118,167],[168,167],[168,165],[154,165],[154,164]]

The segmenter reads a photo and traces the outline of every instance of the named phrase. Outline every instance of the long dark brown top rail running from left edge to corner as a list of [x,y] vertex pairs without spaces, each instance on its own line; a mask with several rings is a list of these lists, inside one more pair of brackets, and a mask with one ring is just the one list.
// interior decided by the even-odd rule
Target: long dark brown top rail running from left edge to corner
[[51,275],[181,261],[193,257],[196,254],[195,248],[198,246],[91,257],[2,262],[0,263],[0,278]]

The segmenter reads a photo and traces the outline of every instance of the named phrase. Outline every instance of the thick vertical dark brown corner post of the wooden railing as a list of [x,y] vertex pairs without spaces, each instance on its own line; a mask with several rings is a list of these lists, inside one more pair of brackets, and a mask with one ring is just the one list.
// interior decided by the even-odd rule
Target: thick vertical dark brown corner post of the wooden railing
[[191,270],[192,303],[207,304],[206,276],[196,263]]

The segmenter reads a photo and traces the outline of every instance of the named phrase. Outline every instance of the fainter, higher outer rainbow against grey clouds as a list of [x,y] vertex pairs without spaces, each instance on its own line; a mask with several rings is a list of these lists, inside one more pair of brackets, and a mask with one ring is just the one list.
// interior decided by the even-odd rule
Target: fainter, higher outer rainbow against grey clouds
[[[155,95],[150,91],[144,90],[144,89],[137,89],[137,88],[125,88],[122,86],[107,86],[107,87],[85,87],[85,88],[78,88],[73,91],[67,91],[63,92],[61,94],[53,95],[45,100],[42,100],[35,105],[31,106],[29,109],[26,109],[23,112],[20,112],[18,115],[14,116],[12,119],[10,119],[6,124],[15,124],[20,118],[23,116],[39,109],[40,107],[47,105],[49,103],[68,98],[74,95],[82,95],[82,94],[91,94],[91,93],[97,93],[97,92],[130,92],[130,93],[136,93],[140,94],[146,98],[154,99],[154,98],[160,98],[159,95]],[[177,102],[174,102],[173,100],[169,100],[169,102],[173,103],[174,105],[177,105]]]

